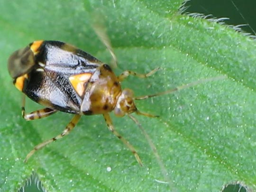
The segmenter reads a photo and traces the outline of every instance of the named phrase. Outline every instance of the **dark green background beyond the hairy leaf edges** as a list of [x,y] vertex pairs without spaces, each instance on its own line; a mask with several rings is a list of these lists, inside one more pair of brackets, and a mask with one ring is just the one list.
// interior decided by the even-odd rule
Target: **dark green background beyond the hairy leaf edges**
[[[187,9],[185,12],[203,13],[204,15],[212,15],[216,18],[229,18],[225,20],[229,25],[243,25],[241,27],[245,32],[256,35],[256,0],[190,0],[186,2]],[[27,183],[25,188],[20,191],[40,192],[37,189],[37,181],[32,179]],[[38,184],[40,186],[40,183]],[[39,187],[40,188],[40,187]],[[225,192],[245,192],[245,188],[239,184],[230,184],[224,190]]]

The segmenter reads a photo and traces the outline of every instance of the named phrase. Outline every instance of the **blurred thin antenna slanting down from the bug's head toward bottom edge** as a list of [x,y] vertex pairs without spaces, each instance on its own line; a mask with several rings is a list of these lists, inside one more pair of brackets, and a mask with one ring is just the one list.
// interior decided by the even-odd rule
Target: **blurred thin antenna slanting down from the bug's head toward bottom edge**
[[154,154],[155,154],[157,163],[158,163],[158,165],[159,165],[160,168],[161,168],[161,172],[162,172],[162,174],[164,175],[165,183],[168,183],[168,184],[169,184],[170,189],[171,189],[172,191],[176,191],[176,190],[174,190],[174,186],[173,186],[173,184],[171,183],[170,178],[168,177],[168,173],[167,173],[167,170],[166,170],[166,168],[165,168],[165,165],[163,164],[163,161],[161,160],[159,154],[157,153],[157,150],[156,150],[156,147],[155,147],[153,141],[151,140],[151,138],[149,137],[149,135],[146,133],[146,130],[141,126],[141,124],[138,122],[138,120],[135,119],[135,117],[133,117],[131,114],[128,114],[128,117],[129,117],[130,119],[132,119],[132,120],[137,124],[137,126],[140,128],[140,130],[142,131],[142,133],[143,133],[144,136],[146,137],[146,140],[147,140],[149,146],[151,147],[151,149],[153,150],[153,152],[154,152]]

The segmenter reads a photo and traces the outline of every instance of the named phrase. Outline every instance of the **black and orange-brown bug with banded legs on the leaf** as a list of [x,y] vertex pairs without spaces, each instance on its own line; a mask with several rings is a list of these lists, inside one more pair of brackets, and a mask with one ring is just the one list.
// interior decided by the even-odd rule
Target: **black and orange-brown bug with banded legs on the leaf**
[[[111,50],[110,53],[113,55]],[[129,75],[146,78],[154,74],[158,68],[146,74],[124,71],[116,76],[110,65],[74,46],[59,41],[43,40],[34,41],[27,47],[15,51],[9,57],[8,70],[16,88],[24,93],[21,107],[24,119],[45,118],[57,111],[74,114],[60,135],[35,146],[27,154],[25,162],[37,150],[68,135],[82,115],[102,114],[109,130],[130,149],[139,165],[142,165],[135,148],[115,130],[109,113],[113,111],[118,117],[128,115],[138,124],[131,113],[147,117],[156,116],[139,111],[135,100],[168,94],[201,82],[212,81],[199,80],[173,90],[134,97],[132,90],[121,89],[120,82]],[[26,113],[26,96],[46,108]]]

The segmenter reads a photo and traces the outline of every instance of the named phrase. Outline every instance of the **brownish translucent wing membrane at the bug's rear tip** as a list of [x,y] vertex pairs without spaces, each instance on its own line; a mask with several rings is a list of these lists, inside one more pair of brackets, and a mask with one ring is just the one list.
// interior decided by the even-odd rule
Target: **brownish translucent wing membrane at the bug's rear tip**
[[22,74],[30,72],[35,65],[35,56],[29,46],[15,51],[8,60],[8,71],[15,79]]

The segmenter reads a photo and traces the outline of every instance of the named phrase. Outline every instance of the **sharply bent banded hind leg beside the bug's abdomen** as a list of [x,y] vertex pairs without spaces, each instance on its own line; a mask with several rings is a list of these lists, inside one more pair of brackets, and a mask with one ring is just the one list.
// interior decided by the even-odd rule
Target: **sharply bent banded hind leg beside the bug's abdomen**
[[26,111],[25,111],[25,98],[26,98],[26,96],[23,95],[22,106],[21,106],[21,115],[22,115],[23,119],[26,119],[27,121],[28,120],[45,118],[45,117],[47,117],[49,115],[52,115],[55,112],[57,112],[57,110],[53,110],[53,109],[50,109],[50,108],[45,108],[45,109],[41,109],[41,110],[35,110],[35,111],[31,112],[31,113],[26,114]]

